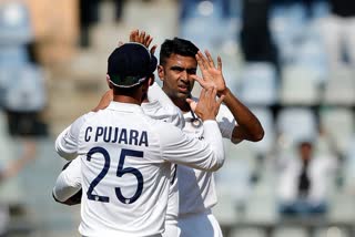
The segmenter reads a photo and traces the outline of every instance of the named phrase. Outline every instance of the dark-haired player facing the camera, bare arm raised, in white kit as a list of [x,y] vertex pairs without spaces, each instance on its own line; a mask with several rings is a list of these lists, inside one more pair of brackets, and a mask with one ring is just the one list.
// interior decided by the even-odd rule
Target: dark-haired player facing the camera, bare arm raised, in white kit
[[[196,75],[197,65],[203,79]],[[243,140],[257,142],[263,138],[264,131],[257,117],[226,87],[220,56],[215,66],[211,54],[207,51],[205,55],[202,54],[192,42],[179,38],[165,40],[161,45],[158,74],[165,94],[154,87],[154,93],[150,93],[149,97],[175,104],[184,114],[183,131],[186,134],[196,138],[205,137],[201,117],[186,103],[186,99],[192,99],[191,91],[194,81],[197,81],[202,87],[214,86],[219,95],[225,96],[216,116],[223,137],[235,144]],[[166,100],[166,95],[170,100]],[[211,209],[217,203],[213,173],[178,165],[178,182],[173,185],[179,186],[178,228],[175,221],[168,219],[165,228],[169,231],[164,233],[164,237],[223,236]],[[169,205],[175,203],[170,202]]]

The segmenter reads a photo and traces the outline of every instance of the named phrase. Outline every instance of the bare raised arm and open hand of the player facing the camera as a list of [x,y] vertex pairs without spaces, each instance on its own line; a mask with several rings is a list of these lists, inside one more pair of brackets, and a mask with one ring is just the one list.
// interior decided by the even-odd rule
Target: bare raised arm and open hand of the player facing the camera
[[252,142],[261,141],[264,137],[264,130],[260,121],[225,84],[222,73],[222,59],[217,58],[217,66],[215,66],[209,51],[205,51],[205,55],[199,51],[196,60],[203,78],[194,75],[194,79],[203,87],[215,86],[217,94],[225,96],[223,102],[236,121],[231,136],[232,142],[239,143],[243,140]]

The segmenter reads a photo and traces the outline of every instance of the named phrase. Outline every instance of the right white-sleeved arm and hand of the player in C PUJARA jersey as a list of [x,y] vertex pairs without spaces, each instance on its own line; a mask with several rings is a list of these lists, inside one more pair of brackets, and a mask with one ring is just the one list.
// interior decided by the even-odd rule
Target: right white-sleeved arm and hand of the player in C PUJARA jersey
[[[224,163],[222,134],[215,121],[223,96],[215,101],[216,90],[202,90],[195,113],[202,118],[204,138],[200,141],[176,127],[160,130],[162,154],[166,161],[203,171],[216,171]],[[191,101],[189,101],[191,103]]]

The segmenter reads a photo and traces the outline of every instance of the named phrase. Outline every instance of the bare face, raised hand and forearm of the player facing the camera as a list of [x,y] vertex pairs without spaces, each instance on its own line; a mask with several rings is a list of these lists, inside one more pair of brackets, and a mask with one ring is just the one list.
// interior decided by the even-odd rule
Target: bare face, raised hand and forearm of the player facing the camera
[[[202,78],[196,75],[197,65]],[[264,137],[264,130],[257,117],[226,86],[220,56],[215,65],[209,51],[205,51],[205,55],[197,52],[195,58],[172,54],[162,65],[158,66],[158,74],[163,81],[163,91],[184,113],[191,111],[191,102],[187,99],[191,97],[194,81],[197,81],[204,89],[215,87],[217,95],[224,96],[224,104],[237,123],[232,133],[233,143],[243,140],[257,142]]]

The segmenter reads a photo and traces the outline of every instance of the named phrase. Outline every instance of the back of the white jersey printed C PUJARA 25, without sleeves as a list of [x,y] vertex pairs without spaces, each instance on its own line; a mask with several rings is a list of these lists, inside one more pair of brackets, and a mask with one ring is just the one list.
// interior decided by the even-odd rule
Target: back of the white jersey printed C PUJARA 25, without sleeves
[[114,103],[81,127],[80,233],[153,236],[163,230],[171,164],[161,156],[153,121],[140,106]]

